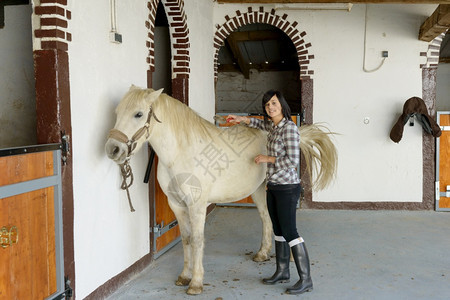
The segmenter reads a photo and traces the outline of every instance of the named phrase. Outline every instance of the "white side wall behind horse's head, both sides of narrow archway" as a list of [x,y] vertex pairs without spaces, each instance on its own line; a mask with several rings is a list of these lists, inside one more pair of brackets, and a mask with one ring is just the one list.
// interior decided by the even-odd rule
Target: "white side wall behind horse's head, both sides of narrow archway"
[[[130,192],[136,212],[131,213],[126,192],[119,188],[119,168],[103,149],[122,95],[131,84],[146,86],[149,11],[147,1],[116,1],[117,27],[123,37],[118,45],[109,42],[109,1],[71,3],[75,272],[77,298],[83,299],[149,253],[148,186],[142,182],[147,151],[132,159],[135,183]],[[189,103],[212,120],[212,4],[190,0],[184,7],[191,55]]]

